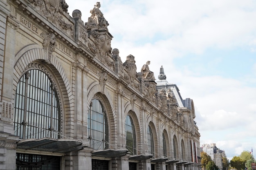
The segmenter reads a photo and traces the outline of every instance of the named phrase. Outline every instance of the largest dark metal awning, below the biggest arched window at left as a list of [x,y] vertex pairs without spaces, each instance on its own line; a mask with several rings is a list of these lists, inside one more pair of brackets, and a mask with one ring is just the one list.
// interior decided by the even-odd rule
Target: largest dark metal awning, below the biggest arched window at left
[[82,150],[83,142],[75,139],[54,139],[44,137],[41,139],[24,139],[18,141],[17,148],[25,150],[40,150],[45,152],[66,153],[74,150]]

